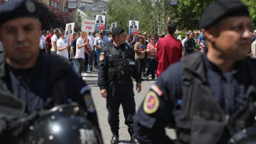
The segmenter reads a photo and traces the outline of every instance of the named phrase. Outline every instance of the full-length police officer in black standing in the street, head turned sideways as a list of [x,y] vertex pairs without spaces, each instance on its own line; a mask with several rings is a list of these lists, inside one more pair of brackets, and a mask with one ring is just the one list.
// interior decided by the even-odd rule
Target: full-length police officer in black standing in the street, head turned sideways
[[136,79],[136,89],[141,91],[141,77],[137,67],[133,49],[125,44],[125,30],[115,28],[111,35],[113,42],[106,45],[100,54],[98,67],[98,85],[100,94],[106,98],[108,109],[108,124],[113,133],[110,143],[119,141],[119,107],[123,106],[125,124],[131,135],[131,143],[137,143],[133,133],[133,114],[135,114],[135,100],[133,93],[133,82],[131,76]]

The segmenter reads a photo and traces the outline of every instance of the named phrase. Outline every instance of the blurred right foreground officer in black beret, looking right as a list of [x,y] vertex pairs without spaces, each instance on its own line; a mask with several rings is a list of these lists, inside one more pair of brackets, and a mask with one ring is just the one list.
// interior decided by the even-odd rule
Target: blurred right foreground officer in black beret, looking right
[[[245,59],[250,26],[241,1],[216,1],[205,9],[200,27],[208,51],[170,65],[150,87],[133,117],[139,142],[239,143],[232,135],[243,129],[248,136],[256,111],[256,62]],[[175,142],[165,134],[166,124],[175,128]],[[255,135],[251,138],[255,143]]]

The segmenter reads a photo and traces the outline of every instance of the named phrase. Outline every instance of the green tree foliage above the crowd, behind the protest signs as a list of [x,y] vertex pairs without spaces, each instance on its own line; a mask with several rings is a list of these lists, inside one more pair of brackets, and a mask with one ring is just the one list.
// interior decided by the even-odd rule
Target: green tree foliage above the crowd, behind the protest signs
[[[199,30],[200,18],[210,3],[216,0],[177,0],[179,5],[167,5],[166,21],[177,22],[178,30]],[[252,28],[256,29],[256,1],[241,0],[251,14]],[[139,21],[140,32],[158,32],[162,24],[162,0],[109,0],[107,7],[108,24],[117,22],[128,32],[129,20]],[[158,26],[158,22],[160,22]],[[159,27],[159,28],[158,28]]]

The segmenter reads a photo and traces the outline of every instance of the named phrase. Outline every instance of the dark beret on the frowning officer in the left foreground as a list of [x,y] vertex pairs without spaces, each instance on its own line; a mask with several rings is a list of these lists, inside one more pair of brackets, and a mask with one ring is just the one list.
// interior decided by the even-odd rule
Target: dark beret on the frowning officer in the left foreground
[[19,17],[38,17],[36,3],[31,0],[14,0],[0,7],[0,24]]

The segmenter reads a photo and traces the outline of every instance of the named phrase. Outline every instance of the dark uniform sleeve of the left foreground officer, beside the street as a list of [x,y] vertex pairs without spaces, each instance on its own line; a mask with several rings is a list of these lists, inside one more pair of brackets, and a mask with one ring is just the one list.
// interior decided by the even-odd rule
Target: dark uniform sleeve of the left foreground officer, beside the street
[[92,100],[90,87],[84,83],[82,77],[75,73],[73,69],[69,73],[69,83],[71,88],[71,100],[73,102],[77,102],[81,106],[84,106],[87,114],[86,118],[88,118],[88,120],[90,120],[90,122],[92,122],[100,132],[98,116]]

